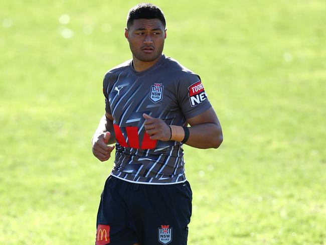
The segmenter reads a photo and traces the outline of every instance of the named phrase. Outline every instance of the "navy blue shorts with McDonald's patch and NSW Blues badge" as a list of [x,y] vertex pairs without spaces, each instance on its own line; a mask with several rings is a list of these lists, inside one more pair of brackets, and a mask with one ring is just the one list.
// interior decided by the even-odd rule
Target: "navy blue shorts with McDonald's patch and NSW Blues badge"
[[188,181],[136,184],[109,176],[97,213],[96,245],[186,245],[192,213]]

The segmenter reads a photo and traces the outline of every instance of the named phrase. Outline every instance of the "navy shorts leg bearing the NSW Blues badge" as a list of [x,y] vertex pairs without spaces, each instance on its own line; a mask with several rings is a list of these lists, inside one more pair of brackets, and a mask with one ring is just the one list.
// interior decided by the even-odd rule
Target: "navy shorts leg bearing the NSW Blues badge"
[[132,221],[141,245],[186,245],[192,212],[187,182],[173,185],[139,184],[130,199]]

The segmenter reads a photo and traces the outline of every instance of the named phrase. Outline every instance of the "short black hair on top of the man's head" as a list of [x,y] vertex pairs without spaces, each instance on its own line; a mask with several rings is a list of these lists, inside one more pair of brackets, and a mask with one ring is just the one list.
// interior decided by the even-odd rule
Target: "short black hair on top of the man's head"
[[127,28],[129,28],[134,20],[138,19],[158,19],[166,27],[166,19],[163,12],[153,4],[138,4],[131,8],[127,17]]

